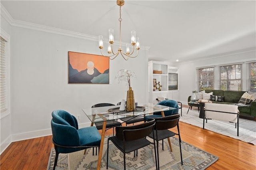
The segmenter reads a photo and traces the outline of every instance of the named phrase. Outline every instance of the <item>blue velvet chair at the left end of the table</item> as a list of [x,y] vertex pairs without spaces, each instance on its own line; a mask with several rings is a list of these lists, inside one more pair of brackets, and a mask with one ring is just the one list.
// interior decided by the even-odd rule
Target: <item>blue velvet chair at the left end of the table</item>
[[78,129],[78,123],[67,111],[52,112],[52,142],[56,151],[54,168],[60,153],[70,153],[100,146],[101,135],[96,127]]

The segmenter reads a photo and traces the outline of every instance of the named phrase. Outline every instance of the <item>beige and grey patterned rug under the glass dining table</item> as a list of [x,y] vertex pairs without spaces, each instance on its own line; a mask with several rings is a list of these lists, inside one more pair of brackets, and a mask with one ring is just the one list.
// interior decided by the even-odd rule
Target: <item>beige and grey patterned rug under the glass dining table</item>
[[[107,138],[104,140],[103,156],[101,162],[101,170],[106,170],[107,159]],[[168,141],[164,140],[164,150],[162,150],[162,142],[159,146],[160,169],[161,170],[204,170],[218,160],[208,152],[200,150],[186,142],[182,142],[182,158],[183,165],[180,160],[179,141],[176,137],[171,137],[172,150]],[[47,170],[52,170],[54,165],[55,150],[52,148],[48,162]],[[92,148],[73,152],[69,154],[59,154],[56,170],[95,170],[97,166],[98,156],[92,155]],[[134,157],[134,153],[126,154],[126,169],[128,170],[155,170],[156,160],[154,157],[154,145],[150,144],[138,150],[138,156]],[[109,146],[109,170],[124,169],[123,154],[110,142]]]

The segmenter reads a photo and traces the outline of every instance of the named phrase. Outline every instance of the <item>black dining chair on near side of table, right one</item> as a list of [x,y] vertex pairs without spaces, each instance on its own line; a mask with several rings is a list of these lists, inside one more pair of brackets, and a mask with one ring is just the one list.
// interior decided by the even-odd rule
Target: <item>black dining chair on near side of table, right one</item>
[[[154,118],[156,121],[156,125],[154,127],[154,130],[148,137],[156,140],[156,148],[157,148],[157,164],[158,164],[158,170],[159,170],[159,151],[158,151],[158,141],[159,140],[164,140],[166,138],[169,138],[171,136],[174,136],[175,134],[178,135],[179,137],[179,143],[180,143],[180,159],[181,159],[181,164],[183,165],[182,161],[182,152],[181,152],[181,138],[180,138],[180,129],[179,129],[179,119],[180,119],[180,114],[176,115],[170,115],[166,117],[159,117],[159,118]],[[178,133],[174,133],[170,128],[177,127]],[[168,141],[169,142],[169,141]],[[172,151],[171,145],[169,143],[170,150]],[[164,144],[162,146],[162,149],[164,150]]]

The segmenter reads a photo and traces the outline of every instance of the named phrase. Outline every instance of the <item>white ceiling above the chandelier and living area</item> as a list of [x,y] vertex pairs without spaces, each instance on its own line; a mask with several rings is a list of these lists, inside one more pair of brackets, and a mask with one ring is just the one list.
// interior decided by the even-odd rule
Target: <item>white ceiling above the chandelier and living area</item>
[[[119,38],[115,0],[1,0],[14,20],[108,38]],[[136,31],[150,47],[149,60],[176,63],[256,47],[256,1],[126,0],[122,42]],[[106,45],[105,45],[106,47]],[[96,47],[98,48],[98,47]]]

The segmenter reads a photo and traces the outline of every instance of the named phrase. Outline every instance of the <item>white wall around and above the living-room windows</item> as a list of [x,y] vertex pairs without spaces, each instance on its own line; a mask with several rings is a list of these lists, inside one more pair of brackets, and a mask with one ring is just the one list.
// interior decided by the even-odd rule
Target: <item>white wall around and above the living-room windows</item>
[[[182,63],[176,65],[179,68],[179,99],[188,105],[188,96],[192,95],[192,90],[196,90],[196,68],[214,65],[223,65],[229,63],[244,63],[246,61],[256,60],[256,51],[254,49],[240,52],[231,52],[225,55],[216,55],[211,59],[201,59],[198,61]],[[244,75],[244,74],[243,74]],[[216,82],[215,82],[216,83]],[[246,91],[245,87],[243,90]]]

